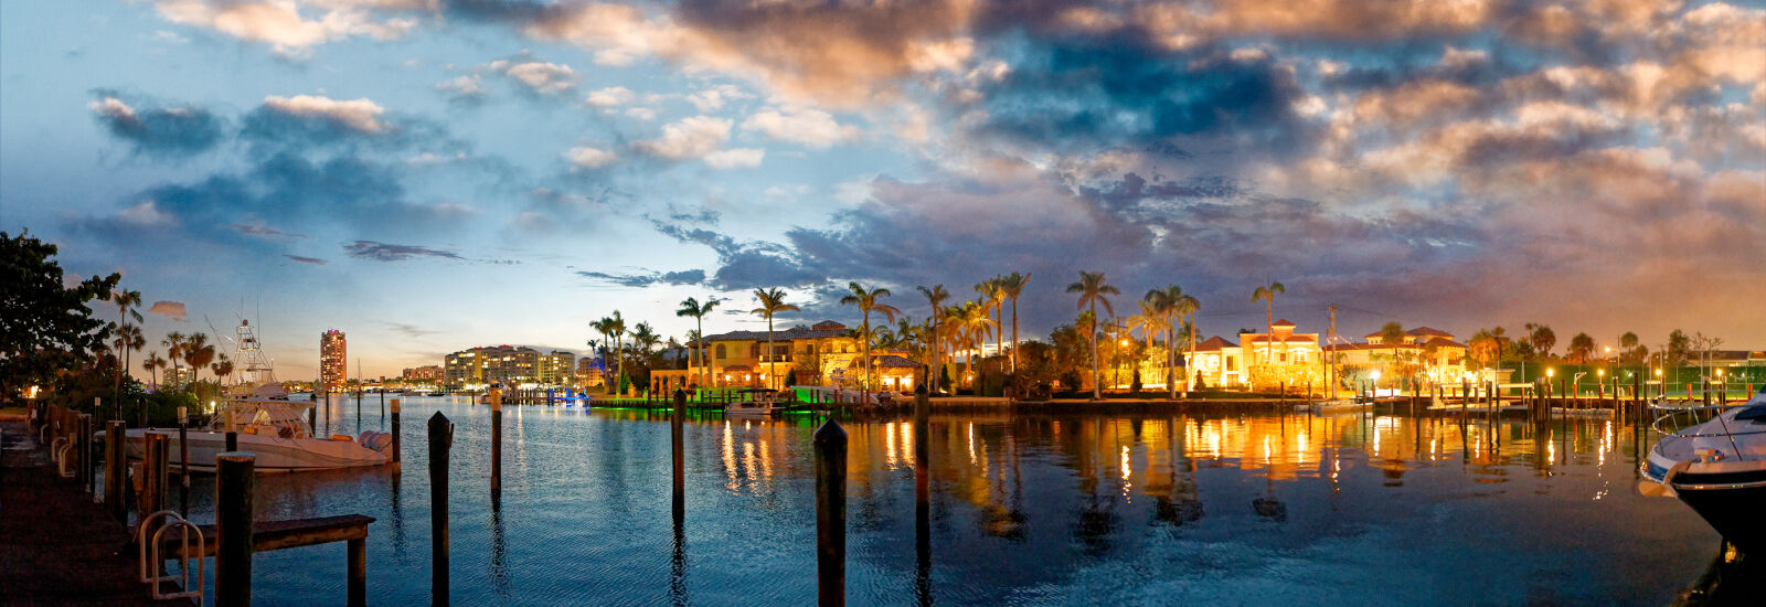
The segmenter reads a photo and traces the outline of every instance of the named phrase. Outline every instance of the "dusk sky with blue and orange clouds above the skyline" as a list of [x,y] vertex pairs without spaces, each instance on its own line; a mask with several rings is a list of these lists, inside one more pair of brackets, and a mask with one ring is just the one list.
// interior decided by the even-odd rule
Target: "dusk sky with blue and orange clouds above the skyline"
[[[1104,272],[1203,333],[1545,323],[1766,348],[1766,7],[1505,0],[0,4],[0,229],[122,272],[147,335],[283,379],[756,288],[925,318]],[[113,318],[115,309],[101,316]],[[353,369],[351,369],[353,371]],[[138,372],[140,374],[140,372]]]

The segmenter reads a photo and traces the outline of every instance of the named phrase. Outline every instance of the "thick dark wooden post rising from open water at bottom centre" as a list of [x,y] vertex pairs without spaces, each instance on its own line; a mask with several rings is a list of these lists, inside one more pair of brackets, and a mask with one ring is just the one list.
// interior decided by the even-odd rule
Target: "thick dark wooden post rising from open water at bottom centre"
[[816,603],[846,605],[846,429],[816,431]]

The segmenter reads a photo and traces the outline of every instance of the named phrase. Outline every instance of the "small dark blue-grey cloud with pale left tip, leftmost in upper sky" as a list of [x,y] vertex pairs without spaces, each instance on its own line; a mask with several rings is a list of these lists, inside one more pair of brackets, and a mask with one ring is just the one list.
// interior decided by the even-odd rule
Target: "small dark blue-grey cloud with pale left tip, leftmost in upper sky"
[[87,104],[111,136],[129,141],[138,155],[189,157],[212,150],[224,134],[224,122],[203,108],[134,108],[115,92],[97,90]]

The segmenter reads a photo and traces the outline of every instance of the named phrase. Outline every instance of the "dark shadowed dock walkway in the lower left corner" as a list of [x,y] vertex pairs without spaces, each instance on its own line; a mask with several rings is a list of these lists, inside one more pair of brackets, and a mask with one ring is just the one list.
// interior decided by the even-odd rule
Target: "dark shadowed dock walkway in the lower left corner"
[[55,473],[23,418],[0,431],[0,605],[192,605],[148,598],[129,529]]

